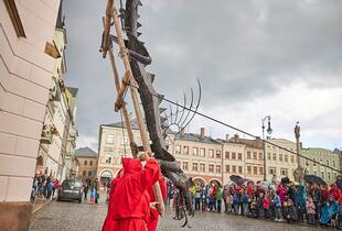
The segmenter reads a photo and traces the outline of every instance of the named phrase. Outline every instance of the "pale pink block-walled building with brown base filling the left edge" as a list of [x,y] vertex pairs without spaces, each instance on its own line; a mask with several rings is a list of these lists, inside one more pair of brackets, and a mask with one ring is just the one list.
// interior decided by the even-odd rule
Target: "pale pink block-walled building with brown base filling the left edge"
[[60,0],[0,1],[0,230],[28,230]]

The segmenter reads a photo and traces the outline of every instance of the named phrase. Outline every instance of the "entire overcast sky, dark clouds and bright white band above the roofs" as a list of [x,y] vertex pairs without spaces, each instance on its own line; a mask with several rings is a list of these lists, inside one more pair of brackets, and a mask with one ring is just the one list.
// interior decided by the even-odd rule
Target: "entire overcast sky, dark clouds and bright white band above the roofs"
[[[119,121],[109,61],[98,52],[106,2],[64,1],[65,79],[79,88],[77,145],[93,148],[99,124]],[[142,3],[140,40],[152,57],[148,68],[158,92],[182,101],[200,79],[203,113],[256,135],[270,114],[272,136],[288,140],[300,121],[304,146],[342,146],[341,0]],[[200,117],[188,131],[201,127],[214,138],[236,133]]]

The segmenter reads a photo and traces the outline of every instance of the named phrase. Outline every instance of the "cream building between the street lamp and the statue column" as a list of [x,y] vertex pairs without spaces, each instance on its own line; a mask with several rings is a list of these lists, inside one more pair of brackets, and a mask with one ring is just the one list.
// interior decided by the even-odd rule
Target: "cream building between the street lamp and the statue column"
[[[267,141],[291,152],[297,152],[296,142],[285,139],[267,139]],[[289,177],[293,180],[293,173],[298,167],[297,155],[275,145],[265,143],[267,179],[270,180],[276,176],[277,180],[282,177]]]

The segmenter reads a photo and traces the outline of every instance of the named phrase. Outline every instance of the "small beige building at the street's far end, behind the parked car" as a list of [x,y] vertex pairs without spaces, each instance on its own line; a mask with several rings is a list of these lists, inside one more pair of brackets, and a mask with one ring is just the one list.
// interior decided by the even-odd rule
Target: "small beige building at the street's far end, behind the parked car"
[[86,146],[75,150],[75,157],[79,163],[77,177],[93,180],[96,177],[98,154]]

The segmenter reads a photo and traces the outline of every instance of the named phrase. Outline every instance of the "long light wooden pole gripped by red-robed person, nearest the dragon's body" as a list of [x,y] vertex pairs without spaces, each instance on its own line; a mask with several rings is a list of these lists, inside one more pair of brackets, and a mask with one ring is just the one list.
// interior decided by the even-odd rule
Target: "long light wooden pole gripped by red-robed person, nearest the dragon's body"
[[[138,127],[139,127],[139,131],[140,131],[140,136],[141,136],[141,141],[142,141],[143,150],[145,150],[145,152],[148,152],[151,154],[151,147],[150,147],[149,139],[147,136],[147,129],[146,129],[145,123],[143,123],[142,113],[141,113],[141,109],[140,109],[139,100],[138,100],[138,90],[136,87],[138,85],[133,78],[133,75],[132,75],[132,72],[130,68],[128,53],[127,53],[127,50],[125,46],[124,35],[122,35],[122,31],[120,28],[120,20],[118,18],[118,13],[117,13],[115,4],[113,6],[113,19],[114,19],[114,25],[115,25],[115,30],[116,30],[117,37],[118,37],[119,47],[120,47],[120,56],[124,61],[126,74],[129,77],[130,95],[131,95],[135,112],[137,116],[137,121],[138,121]],[[135,86],[135,87],[132,87],[132,86]],[[153,185],[153,189],[154,189],[156,199],[158,201],[159,213],[160,213],[160,216],[163,216],[163,213],[165,211],[165,207],[164,207],[164,202],[162,199],[160,185],[158,182]]]

